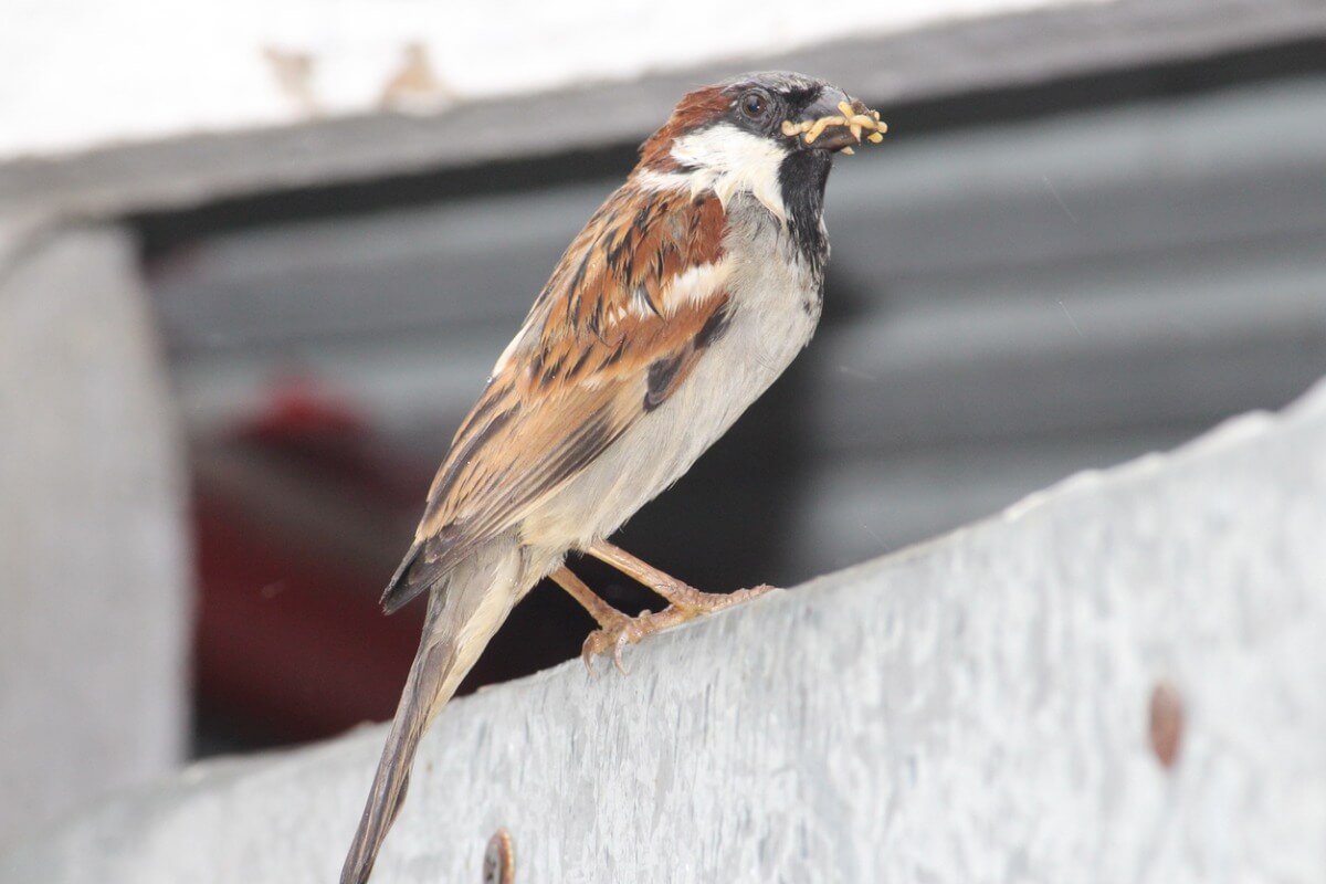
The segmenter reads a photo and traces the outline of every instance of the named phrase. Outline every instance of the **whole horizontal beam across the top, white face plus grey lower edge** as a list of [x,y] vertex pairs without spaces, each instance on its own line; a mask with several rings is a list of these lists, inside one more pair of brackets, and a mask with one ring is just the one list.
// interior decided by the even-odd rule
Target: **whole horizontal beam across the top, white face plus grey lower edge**
[[[451,19],[430,13],[427,4],[411,5],[408,15],[346,7],[342,13],[349,19],[338,23],[343,32],[329,24],[328,33],[337,36],[322,41],[330,49],[321,54],[320,46],[286,38],[280,20],[273,24],[261,4],[244,7],[257,12],[251,20],[233,13],[219,29],[194,12],[182,12],[178,27],[162,28],[155,5],[130,7],[145,16],[145,27],[134,37],[159,30],[163,54],[149,54],[143,64],[126,68],[142,70],[149,80],[118,91],[133,99],[130,110],[150,111],[147,131],[166,130],[171,137],[113,131],[107,139],[102,133],[99,142],[85,148],[64,147],[60,155],[36,150],[27,159],[0,164],[0,208],[54,204],[65,211],[118,213],[629,143],[656,127],[687,89],[751,68],[814,72],[863,98],[888,103],[1203,58],[1326,33],[1326,7],[1317,0],[936,0],[813,16],[830,23],[829,29],[818,27],[823,23],[808,23],[800,7],[766,3],[725,8],[721,21],[727,25],[713,8],[691,15],[670,8],[659,19],[621,9],[603,16],[586,4],[579,11],[583,21],[560,20],[568,40],[594,41],[594,49],[586,52],[560,42],[557,58],[583,60],[568,62],[568,69],[548,54],[542,28],[526,34],[511,27],[521,19],[520,12],[504,17],[497,34],[471,34]],[[420,9],[423,23],[418,21]],[[717,42],[695,37],[691,21],[700,16]],[[208,54],[216,45],[228,45],[224,41],[236,32],[243,34],[243,46],[220,57]],[[636,38],[644,32],[656,38],[656,46],[667,46],[663,54],[644,52],[646,44]],[[723,36],[725,32],[731,34]],[[61,40],[66,36],[57,33]],[[757,38],[751,42],[736,34]],[[442,41],[432,53],[435,66],[476,49],[495,66],[488,74],[473,66],[457,72],[459,77],[442,72],[446,76],[440,80],[451,81],[439,83],[442,113],[383,113],[374,102],[390,68],[379,62],[399,64],[416,40],[424,48]],[[45,41],[20,32],[15,53],[42,45]],[[500,48],[492,49],[495,45]],[[679,56],[680,45],[687,50]],[[613,54],[601,52],[605,46],[629,49],[614,56],[611,69],[595,68]],[[121,70],[119,45],[111,44],[111,50],[102,76],[130,76]],[[48,54],[40,54],[41,65]],[[56,65],[65,61],[62,56],[53,58]],[[219,65],[221,70],[241,66],[219,74]],[[333,102],[330,109],[317,107],[316,101],[310,106],[310,94],[329,83],[343,85],[343,78],[328,76],[329,68],[338,65],[349,77],[366,77],[353,90],[357,98]],[[284,72],[286,68],[293,74]],[[298,82],[292,85],[290,76]],[[160,95],[163,77],[174,105]],[[227,89],[216,89],[217,77],[227,80]],[[82,87],[64,66],[53,72],[38,66],[16,82],[34,78],[70,82],[74,99],[97,95],[89,117],[103,113],[105,95]],[[190,89],[190,83],[196,87]],[[257,89],[264,97],[248,107],[247,117],[233,119],[225,102],[243,89]],[[137,101],[146,90],[154,90],[159,101]],[[50,114],[49,106],[28,107],[23,90],[15,95],[17,110]],[[0,93],[0,110],[4,98]],[[213,106],[217,101],[219,109]],[[130,115],[111,114],[110,121],[119,126]],[[80,117],[65,106],[57,119]],[[180,121],[187,123],[184,133],[178,131]],[[21,118],[11,123],[16,131],[23,126]],[[142,140],[134,143],[135,137]]]

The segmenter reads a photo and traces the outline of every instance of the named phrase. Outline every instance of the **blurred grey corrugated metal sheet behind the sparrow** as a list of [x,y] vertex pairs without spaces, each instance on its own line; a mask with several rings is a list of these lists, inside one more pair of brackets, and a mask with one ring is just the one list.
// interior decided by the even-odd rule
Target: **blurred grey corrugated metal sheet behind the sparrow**
[[[199,244],[156,276],[195,433],[308,372],[426,472],[615,183]],[[790,501],[765,513],[786,561],[749,562],[761,578],[930,537],[1326,372],[1322,78],[902,134],[838,163],[827,215],[823,326],[723,443]],[[761,436],[800,453],[765,463]]]

